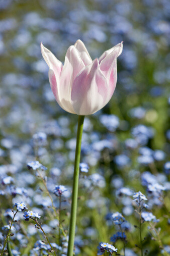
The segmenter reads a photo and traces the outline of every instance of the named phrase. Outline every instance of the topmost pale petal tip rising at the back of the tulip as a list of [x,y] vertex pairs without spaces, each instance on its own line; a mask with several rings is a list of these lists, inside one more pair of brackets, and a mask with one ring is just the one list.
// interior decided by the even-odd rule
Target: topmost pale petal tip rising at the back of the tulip
[[81,40],[77,40],[74,44],[75,48],[77,49],[79,56],[81,60],[83,61],[84,65],[90,65],[92,63],[92,59],[90,57],[90,54],[84,45],[84,43]]

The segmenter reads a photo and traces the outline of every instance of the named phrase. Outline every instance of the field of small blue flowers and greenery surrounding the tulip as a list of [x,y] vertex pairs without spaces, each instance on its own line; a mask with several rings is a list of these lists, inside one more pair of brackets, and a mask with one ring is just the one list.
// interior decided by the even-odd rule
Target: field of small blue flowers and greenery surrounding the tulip
[[[1,256],[68,255],[76,114],[74,254],[170,255],[169,14],[167,0],[0,0]],[[40,43],[64,63],[77,39],[92,60],[123,41],[97,112],[65,112],[50,88]]]

